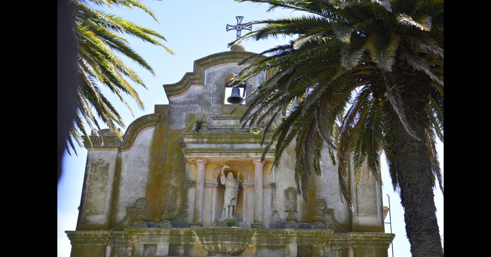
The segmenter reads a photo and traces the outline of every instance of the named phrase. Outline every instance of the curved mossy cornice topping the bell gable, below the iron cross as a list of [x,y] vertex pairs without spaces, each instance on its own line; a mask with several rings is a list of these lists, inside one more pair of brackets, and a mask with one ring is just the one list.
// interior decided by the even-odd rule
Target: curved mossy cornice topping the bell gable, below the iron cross
[[[164,90],[167,98],[185,93],[191,88],[191,85],[202,85],[205,83],[205,69],[227,63],[239,63],[244,59],[255,55],[253,52],[245,51],[226,51],[208,55],[201,59],[195,60],[192,72],[186,72],[183,78],[174,84],[165,84]],[[264,57],[259,56],[259,59]]]

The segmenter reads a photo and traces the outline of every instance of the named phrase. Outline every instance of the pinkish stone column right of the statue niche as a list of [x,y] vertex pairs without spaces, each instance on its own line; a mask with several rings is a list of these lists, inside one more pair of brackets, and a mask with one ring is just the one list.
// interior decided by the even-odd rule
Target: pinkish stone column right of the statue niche
[[251,228],[264,228],[263,226],[263,166],[261,158],[252,159],[254,164],[254,221]]

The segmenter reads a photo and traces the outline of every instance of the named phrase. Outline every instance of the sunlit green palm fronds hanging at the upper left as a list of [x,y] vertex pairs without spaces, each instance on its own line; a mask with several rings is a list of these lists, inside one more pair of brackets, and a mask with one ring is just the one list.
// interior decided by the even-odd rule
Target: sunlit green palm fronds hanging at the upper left
[[[93,110],[95,110],[97,117],[109,126],[112,133],[122,137],[117,126],[124,128],[124,122],[118,111],[102,93],[102,85],[108,87],[112,93],[115,93],[121,102],[128,107],[132,115],[133,111],[126,102],[124,94],[133,98],[140,109],[143,110],[144,108],[143,102],[138,96],[138,93],[136,93],[136,90],[128,82],[128,78],[143,87],[145,87],[144,82],[138,77],[134,70],[126,66],[116,53],[128,57],[139,64],[140,67],[150,71],[152,75],[155,75],[155,73],[150,65],[148,65],[148,63],[130,47],[128,41],[122,37],[121,34],[132,35],[150,44],[163,47],[166,51],[173,54],[169,48],[165,47],[159,41],[165,41],[164,36],[161,34],[126,21],[121,17],[91,8],[87,3],[96,6],[106,5],[108,7],[136,7],[145,11],[157,21],[152,10],[138,0],[71,1],[74,33],[79,47],[77,57],[80,76],[80,84],[77,90],[79,97],[77,115],[67,139],[74,151],[75,146],[72,139],[82,146],[81,141],[83,135],[83,138],[91,143],[84,127],[84,121],[95,135],[102,137],[101,127]],[[82,135],[79,131],[82,132]],[[70,153],[68,145],[66,149],[68,153]],[[75,153],[77,152],[75,151]]]

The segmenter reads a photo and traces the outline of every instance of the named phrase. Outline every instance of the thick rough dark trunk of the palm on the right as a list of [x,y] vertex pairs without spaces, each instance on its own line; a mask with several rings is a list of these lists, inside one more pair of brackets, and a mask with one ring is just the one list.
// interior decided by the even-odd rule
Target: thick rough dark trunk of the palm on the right
[[[429,122],[424,108],[428,103],[429,81],[412,80],[399,85],[409,125],[418,138],[406,132],[390,104],[386,105],[392,129],[392,164],[398,174],[401,203],[405,210],[406,233],[413,257],[442,257],[433,194],[435,177],[426,151],[424,128]],[[416,83],[415,83],[416,82]],[[405,88],[406,87],[406,88]]]

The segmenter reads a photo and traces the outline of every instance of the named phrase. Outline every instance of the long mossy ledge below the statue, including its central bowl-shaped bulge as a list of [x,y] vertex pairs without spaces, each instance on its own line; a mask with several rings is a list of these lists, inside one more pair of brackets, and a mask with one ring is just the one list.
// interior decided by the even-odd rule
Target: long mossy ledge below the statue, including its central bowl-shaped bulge
[[[118,238],[120,247],[141,244],[203,245],[210,253],[239,253],[249,246],[312,246],[326,249],[379,249],[386,251],[395,234],[334,233],[333,230],[252,229],[252,228],[126,228],[124,232],[66,231],[73,246],[104,246],[110,238]],[[128,239],[126,239],[128,238]],[[128,241],[126,241],[126,240]],[[127,243],[126,243],[127,242]],[[118,247],[117,245],[114,245]],[[225,248],[223,248],[225,247]],[[230,248],[230,249],[229,249]],[[372,250],[370,250],[372,251]],[[373,256],[373,255],[370,255]]]

